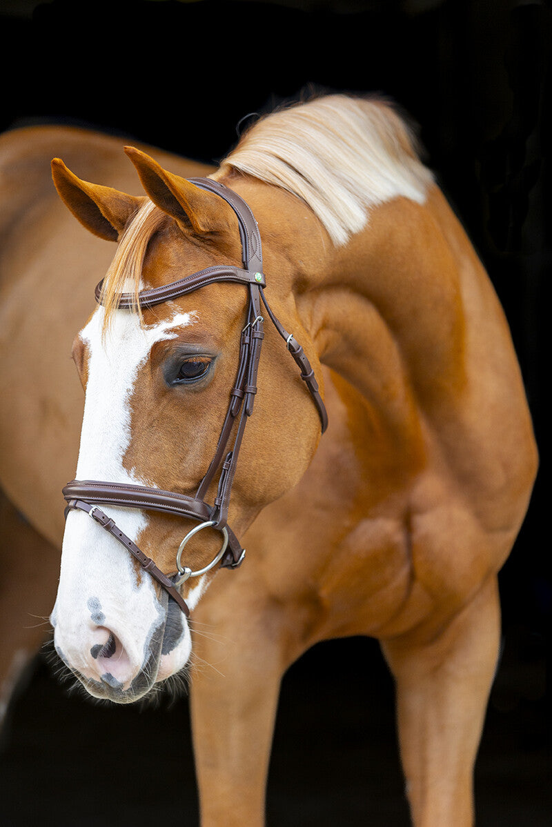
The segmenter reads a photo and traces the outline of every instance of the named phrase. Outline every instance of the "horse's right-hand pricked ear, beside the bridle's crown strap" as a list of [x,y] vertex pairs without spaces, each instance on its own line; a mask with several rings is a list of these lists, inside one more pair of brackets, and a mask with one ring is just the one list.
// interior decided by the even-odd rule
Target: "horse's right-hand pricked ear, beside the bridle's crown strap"
[[199,234],[220,232],[231,227],[229,211],[222,198],[199,189],[180,175],[164,170],[153,158],[133,146],[125,146],[132,164],[153,203],[175,219],[184,230]]

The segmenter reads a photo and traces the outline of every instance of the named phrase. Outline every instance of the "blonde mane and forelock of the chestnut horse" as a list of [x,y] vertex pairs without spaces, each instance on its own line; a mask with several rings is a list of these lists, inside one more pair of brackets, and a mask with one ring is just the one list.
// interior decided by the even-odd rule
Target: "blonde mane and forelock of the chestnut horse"
[[[335,246],[366,226],[370,210],[404,196],[423,203],[432,174],[415,139],[391,105],[378,99],[329,95],[263,117],[210,177],[230,170],[252,175],[301,198]],[[103,282],[107,329],[118,296],[132,292],[135,308],[146,247],[165,213],[148,199],[132,219]]]

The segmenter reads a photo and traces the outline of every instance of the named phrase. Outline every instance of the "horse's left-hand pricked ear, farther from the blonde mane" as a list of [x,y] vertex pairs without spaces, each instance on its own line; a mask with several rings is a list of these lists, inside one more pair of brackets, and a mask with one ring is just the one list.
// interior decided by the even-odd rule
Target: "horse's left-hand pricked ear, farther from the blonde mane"
[[51,166],[55,189],[74,217],[95,236],[118,241],[144,199],[81,181],[60,158],[52,160]]

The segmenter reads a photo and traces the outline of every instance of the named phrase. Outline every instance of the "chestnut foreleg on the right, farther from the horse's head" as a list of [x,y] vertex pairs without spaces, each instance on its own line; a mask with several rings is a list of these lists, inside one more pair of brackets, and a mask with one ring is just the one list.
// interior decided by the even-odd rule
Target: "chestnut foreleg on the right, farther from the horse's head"
[[473,825],[473,765],[496,669],[495,578],[427,642],[382,642],[396,679],[406,791],[415,827]]

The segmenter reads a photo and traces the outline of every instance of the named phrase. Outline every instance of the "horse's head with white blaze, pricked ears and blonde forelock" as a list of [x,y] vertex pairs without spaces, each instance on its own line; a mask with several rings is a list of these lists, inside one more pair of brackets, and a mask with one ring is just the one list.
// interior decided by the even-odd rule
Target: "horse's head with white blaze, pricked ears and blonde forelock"
[[[243,233],[228,200],[170,174],[141,151],[127,148],[127,155],[146,196],[90,184],[62,161],[52,164],[60,197],[79,222],[118,242],[98,307],[74,340],[73,358],[85,394],[76,478],[146,491],[139,508],[104,498],[100,514],[148,565],[125,552],[114,532],[103,530],[105,524],[89,519],[97,517],[94,505],[76,507],[77,500],[66,495],[70,510],[51,622],[57,652],[89,693],[121,703],[144,696],[190,658],[185,612],[170,588],[160,588],[148,571],[160,572],[161,582],[170,576],[185,608],[193,610],[214,577],[216,567],[210,563],[226,543],[227,526],[234,539],[241,536],[266,504],[290,490],[309,465],[320,433],[310,395],[282,356],[286,329],[267,306],[276,333],[273,327],[270,335],[266,331],[260,361],[251,357],[253,372],[258,368],[255,386],[247,375],[237,380],[243,373],[244,341],[260,347],[263,337],[262,317],[252,318],[251,295],[254,280],[264,284],[264,275],[253,274],[252,284],[245,286],[207,278],[201,289],[141,302],[148,291],[158,295],[190,274],[243,268]],[[246,270],[244,279],[250,275]],[[290,329],[301,330],[319,373],[313,343],[308,337],[305,341],[295,315],[289,262],[279,267],[277,279],[277,313],[286,325],[297,325]],[[287,294],[282,294],[286,279]],[[122,295],[130,297],[127,304]],[[304,351],[294,337],[287,338],[303,367],[302,378],[311,394],[318,394],[313,371],[305,374],[305,364],[310,365]],[[257,402],[250,417],[253,398]],[[240,415],[228,420],[232,404]],[[240,430],[242,418],[249,424]],[[221,428],[226,429],[224,438]],[[221,440],[222,448],[227,442],[232,448],[234,462]],[[224,461],[232,479],[221,493]],[[196,521],[186,510],[183,516],[149,508],[148,492],[155,499],[156,491],[169,492],[166,500],[188,498],[198,511]],[[180,543],[198,527],[207,504],[212,509],[204,515],[204,530],[190,535],[176,571]],[[231,565],[236,562],[238,558]],[[198,576],[190,577],[190,571]]]

